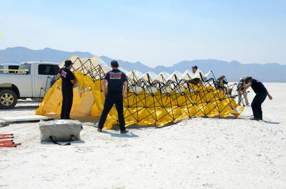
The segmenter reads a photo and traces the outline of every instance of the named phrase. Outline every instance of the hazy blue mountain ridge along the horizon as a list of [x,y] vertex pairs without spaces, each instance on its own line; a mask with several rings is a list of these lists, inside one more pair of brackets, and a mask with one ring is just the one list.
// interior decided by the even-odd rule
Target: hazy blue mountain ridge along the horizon
[[[42,61],[44,62],[62,62],[65,59],[68,59],[70,56],[76,54],[79,57],[92,57],[89,52],[66,52],[55,50],[52,48],[44,48],[41,50],[32,50],[26,47],[12,47],[0,50],[0,64],[3,63],[21,63],[29,61]],[[108,56],[99,56],[104,62],[109,64],[112,58]],[[242,76],[251,75],[253,78],[257,78],[263,82],[286,82],[286,65],[281,65],[278,63],[266,63],[266,64],[241,64],[236,60],[231,62],[215,59],[204,59],[204,60],[184,60],[178,63],[173,64],[173,66],[165,67],[163,65],[156,66],[155,68],[148,67],[143,63],[137,62],[128,62],[116,59],[120,67],[123,67],[125,70],[133,71],[138,70],[142,73],[154,72],[159,74],[163,71],[167,73],[173,73],[174,71],[179,71],[184,73],[185,70],[191,70],[193,65],[197,65],[203,73],[207,73],[209,70],[212,70],[215,78],[218,78],[220,74],[224,74],[226,79],[229,81],[238,82],[239,78]]]

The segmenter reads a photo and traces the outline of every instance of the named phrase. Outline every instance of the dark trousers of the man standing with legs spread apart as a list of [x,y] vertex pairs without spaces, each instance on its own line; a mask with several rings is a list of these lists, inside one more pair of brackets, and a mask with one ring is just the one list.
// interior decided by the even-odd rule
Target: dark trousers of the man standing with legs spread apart
[[118,114],[119,127],[121,131],[125,131],[125,120],[123,116],[123,96],[122,92],[111,91],[108,92],[104,101],[103,110],[98,122],[98,128],[102,129],[106,121],[107,115],[115,104]]

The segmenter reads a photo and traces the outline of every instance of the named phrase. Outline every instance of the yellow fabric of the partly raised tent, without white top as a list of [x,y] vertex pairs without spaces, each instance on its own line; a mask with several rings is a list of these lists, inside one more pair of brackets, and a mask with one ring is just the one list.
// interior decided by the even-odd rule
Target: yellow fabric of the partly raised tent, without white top
[[[76,60],[77,57],[74,58],[74,61]],[[75,68],[82,69],[82,67]],[[84,69],[88,70],[92,67]],[[80,71],[75,71],[74,76],[77,85],[73,89],[74,97],[70,115],[100,116],[105,100],[101,89],[102,80],[94,80],[94,77]],[[102,76],[95,77],[101,78]],[[228,98],[223,91],[216,90],[212,86],[189,84],[189,87],[191,90],[169,88],[166,94],[158,90],[154,91],[154,89],[151,89],[151,92],[147,89],[136,93],[133,88],[129,88],[127,98],[124,100],[126,126],[131,124],[163,126],[170,122],[197,116],[225,117],[229,114],[239,116],[244,109],[243,106],[237,106],[233,98]],[[45,95],[36,114],[55,113],[59,115],[61,104],[61,79],[59,79]],[[117,111],[114,106],[108,114],[104,129],[111,129],[112,125],[118,124],[117,120]]]

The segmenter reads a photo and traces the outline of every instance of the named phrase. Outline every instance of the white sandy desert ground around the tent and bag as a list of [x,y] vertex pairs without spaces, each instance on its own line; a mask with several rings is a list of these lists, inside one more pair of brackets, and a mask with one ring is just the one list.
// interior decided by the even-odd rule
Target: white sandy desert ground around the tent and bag
[[[194,118],[128,134],[84,126],[71,146],[41,144],[39,123],[11,123],[0,134],[22,145],[0,148],[0,188],[286,188],[286,84],[265,86],[267,123]],[[23,100],[0,116],[37,105]],[[242,115],[251,114],[248,105]]]

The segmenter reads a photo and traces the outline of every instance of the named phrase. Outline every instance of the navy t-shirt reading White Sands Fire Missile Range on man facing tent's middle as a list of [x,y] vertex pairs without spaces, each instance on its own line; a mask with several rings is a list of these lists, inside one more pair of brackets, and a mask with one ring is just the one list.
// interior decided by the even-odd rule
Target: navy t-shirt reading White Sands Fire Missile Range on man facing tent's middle
[[126,74],[117,69],[107,72],[104,79],[108,81],[107,91],[122,92],[123,82],[127,81]]

